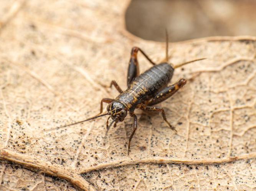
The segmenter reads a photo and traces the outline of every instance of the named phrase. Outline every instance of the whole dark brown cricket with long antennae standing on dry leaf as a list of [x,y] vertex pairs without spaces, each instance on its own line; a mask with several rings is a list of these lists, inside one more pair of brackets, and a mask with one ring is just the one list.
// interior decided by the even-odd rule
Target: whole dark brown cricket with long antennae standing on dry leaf
[[[116,87],[117,91],[119,91],[120,93],[116,97],[116,99],[103,98],[101,100],[99,115],[96,115],[95,117],[91,117],[83,121],[65,125],[63,127],[76,125],[78,123],[83,123],[84,121],[109,115],[106,121],[107,135],[107,132],[109,131],[109,128],[112,126],[112,124],[114,123],[114,127],[116,127],[116,124],[119,121],[124,121],[124,118],[126,118],[127,113],[129,113],[130,117],[133,117],[133,131],[129,138],[128,155],[130,152],[130,142],[137,129],[137,116],[134,113],[134,110],[136,108],[140,108],[142,110],[149,112],[161,112],[162,117],[164,121],[167,123],[167,125],[172,130],[176,131],[176,129],[167,121],[164,108],[157,107],[154,105],[159,104],[160,102],[163,102],[164,100],[168,99],[187,83],[186,79],[181,78],[178,82],[174,83],[173,85],[167,86],[167,84],[170,82],[173,76],[173,71],[175,68],[178,68],[191,62],[203,60],[205,58],[200,58],[173,66],[172,64],[168,63],[167,34],[166,38],[167,40],[165,62],[156,64],[139,47],[133,47],[131,51],[127,73],[127,89],[125,91],[122,91],[121,87],[116,83],[116,81],[112,80],[110,87]],[[144,57],[147,58],[147,60],[153,65],[151,68],[149,68],[149,70],[145,71],[143,74],[139,73],[139,63],[137,60],[138,52],[141,52],[144,55]],[[101,114],[103,112],[103,103],[108,104],[107,112]],[[112,118],[110,125],[109,118]]]

